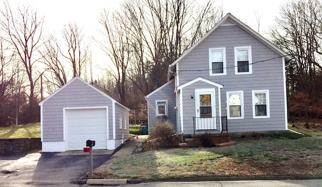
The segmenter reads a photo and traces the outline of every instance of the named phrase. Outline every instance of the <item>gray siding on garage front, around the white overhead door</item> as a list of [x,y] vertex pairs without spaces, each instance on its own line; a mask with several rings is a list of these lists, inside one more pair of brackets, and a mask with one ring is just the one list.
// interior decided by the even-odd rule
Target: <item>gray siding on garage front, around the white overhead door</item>
[[[63,108],[105,106],[108,106],[108,124],[111,128],[112,101],[83,81],[75,79],[43,103],[43,141],[63,141]],[[113,137],[112,130],[109,131],[110,137]]]

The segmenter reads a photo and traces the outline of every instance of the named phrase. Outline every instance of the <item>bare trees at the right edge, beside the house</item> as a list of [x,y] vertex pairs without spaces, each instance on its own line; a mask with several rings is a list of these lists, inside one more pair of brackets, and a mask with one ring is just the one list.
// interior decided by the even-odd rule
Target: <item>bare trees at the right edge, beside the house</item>
[[[311,117],[322,114],[320,76],[322,67],[322,4],[318,0],[296,0],[283,5],[270,35],[274,43],[295,61],[287,72],[290,115]],[[308,97],[309,96],[309,97]]]

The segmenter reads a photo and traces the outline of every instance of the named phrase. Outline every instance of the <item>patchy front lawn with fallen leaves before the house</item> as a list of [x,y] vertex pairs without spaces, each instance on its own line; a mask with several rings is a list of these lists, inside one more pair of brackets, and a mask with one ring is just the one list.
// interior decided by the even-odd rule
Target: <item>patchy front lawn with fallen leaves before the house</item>
[[174,148],[116,157],[97,168],[94,175],[135,182],[218,176],[322,176],[321,136],[274,137],[236,138],[237,144],[227,147]]

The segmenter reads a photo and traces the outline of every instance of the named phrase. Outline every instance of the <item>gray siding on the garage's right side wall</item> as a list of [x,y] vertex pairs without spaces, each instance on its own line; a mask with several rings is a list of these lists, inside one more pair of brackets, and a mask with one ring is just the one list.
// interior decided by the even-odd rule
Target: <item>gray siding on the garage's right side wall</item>
[[[120,129],[120,116],[122,117],[122,129]],[[126,118],[126,129],[124,129],[124,117]],[[129,137],[129,111],[125,110],[124,107],[120,106],[119,104],[115,104],[115,127],[116,139],[124,139]]]

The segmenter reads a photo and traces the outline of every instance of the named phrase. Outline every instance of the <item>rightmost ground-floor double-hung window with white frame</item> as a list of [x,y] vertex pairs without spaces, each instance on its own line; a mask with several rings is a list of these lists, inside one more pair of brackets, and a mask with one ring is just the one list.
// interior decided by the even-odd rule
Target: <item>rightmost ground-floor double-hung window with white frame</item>
[[253,90],[253,117],[269,118],[270,102],[269,90]]

